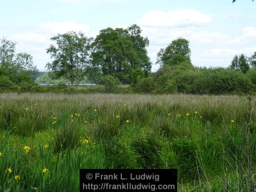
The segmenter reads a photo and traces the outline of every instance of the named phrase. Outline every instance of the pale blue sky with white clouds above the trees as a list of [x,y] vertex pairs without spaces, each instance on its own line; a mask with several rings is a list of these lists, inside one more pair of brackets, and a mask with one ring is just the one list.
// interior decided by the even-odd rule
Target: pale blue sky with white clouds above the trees
[[44,70],[52,36],[137,24],[150,40],[155,65],[160,48],[172,40],[189,40],[195,66],[227,67],[235,54],[256,51],[256,2],[251,0],[9,0],[1,1],[0,37],[17,42],[16,52],[33,56]]

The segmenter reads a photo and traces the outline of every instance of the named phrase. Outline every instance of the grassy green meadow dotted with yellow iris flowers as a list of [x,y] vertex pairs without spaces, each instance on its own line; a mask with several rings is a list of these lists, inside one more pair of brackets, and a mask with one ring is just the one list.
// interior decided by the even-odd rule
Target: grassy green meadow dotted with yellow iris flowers
[[177,168],[178,191],[250,191],[255,96],[0,94],[0,191],[79,191],[80,168]]

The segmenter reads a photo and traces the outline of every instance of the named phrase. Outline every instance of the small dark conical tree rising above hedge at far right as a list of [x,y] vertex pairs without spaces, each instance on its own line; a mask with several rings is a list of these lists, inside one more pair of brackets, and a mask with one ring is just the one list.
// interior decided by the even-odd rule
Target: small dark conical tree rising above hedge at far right
[[242,71],[244,74],[250,69],[244,54],[235,55],[229,67],[236,71]]

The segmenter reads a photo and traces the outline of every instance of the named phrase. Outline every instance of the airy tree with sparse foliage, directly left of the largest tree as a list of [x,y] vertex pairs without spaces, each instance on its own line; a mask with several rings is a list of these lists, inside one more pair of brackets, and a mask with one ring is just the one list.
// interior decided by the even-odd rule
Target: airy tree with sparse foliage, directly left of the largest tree
[[47,53],[54,59],[46,65],[50,75],[57,79],[64,77],[71,84],[79,84],[91,67],[90,50],[93,38],[88,38],[81,32],[70,31],[58,34],[51,40],[56,42],[56,46],[51,45],[47,49]]

